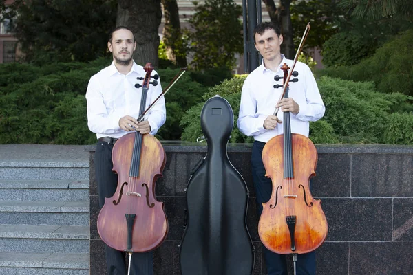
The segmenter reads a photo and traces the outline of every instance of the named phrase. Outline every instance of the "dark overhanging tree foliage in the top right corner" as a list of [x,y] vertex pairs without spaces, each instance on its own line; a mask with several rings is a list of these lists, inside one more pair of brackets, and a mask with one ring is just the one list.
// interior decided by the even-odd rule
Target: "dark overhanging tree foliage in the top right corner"
[[346,20],[324,44],[323,61],[328,66],[357,64],[396,34],[413,28],[412,17],[406,16],[413,12],[412,1],[341,0],[337,5]]

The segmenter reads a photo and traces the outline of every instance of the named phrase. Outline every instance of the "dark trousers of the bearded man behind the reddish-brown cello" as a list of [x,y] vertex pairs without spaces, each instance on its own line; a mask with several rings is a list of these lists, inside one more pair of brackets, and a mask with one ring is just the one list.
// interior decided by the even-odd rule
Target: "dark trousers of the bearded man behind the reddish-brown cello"
[[[118,175],[112,171],[114,166],[112,162],[113,147],[113,144],[98,142],[94,155],[100,209],[105,204],[105,197],[112,197],[118,185]],[[106,244],[105,250],[108,274],[126,275],[127,263],[125,262],[125,253],[114,250]],[[129,263],[129,259],[127,261]],[[132,254],[130,274],[153,275],[153,252]]]

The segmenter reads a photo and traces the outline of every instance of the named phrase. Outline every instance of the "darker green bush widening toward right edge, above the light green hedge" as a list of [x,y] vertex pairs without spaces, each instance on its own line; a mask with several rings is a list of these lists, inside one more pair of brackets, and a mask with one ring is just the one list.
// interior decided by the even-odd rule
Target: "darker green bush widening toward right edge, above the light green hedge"
[[317,75],[354,81],[374,81],[378,91],[413,96],[413,29],[379,47],[357,65],[326,68]]

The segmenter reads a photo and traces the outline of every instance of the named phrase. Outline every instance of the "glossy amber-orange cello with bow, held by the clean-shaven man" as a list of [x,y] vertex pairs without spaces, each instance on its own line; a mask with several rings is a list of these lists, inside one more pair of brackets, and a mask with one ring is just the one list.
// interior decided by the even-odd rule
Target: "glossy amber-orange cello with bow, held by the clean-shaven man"
[[[309,24],[307,27],[293,68]],[[288,74],[290,67],[286,63],[282,67],[282,97],[284,95],[285,98],[288,98],[288,82],[293,68]],[[315,175],[317,165],[315,146],[308,137],[291,133],[289,112],[284,112],[283,125],[284,134],[269,140],[262,151],[266,176],[273,181],[273,192],[271,199],[262,203],[264,209],[258,233],[268,250],[277,254],[293,254],[295,266],[297,254],[311,252],[324,242],[328,225],[321,209],[321,201],[313,199],[309,188],[309,179]]]

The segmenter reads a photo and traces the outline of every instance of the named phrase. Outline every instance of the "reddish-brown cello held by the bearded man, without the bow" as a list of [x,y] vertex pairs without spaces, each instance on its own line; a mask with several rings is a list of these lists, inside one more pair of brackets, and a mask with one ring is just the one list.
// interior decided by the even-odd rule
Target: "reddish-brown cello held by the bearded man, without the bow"
[[[147,91],[153,67],[144,67],[140,114],[145,113]],[[140,86],[138,86],[140,87]],[[113,197],[105,199],[98,216],[100,238],[110,247],[129,254],[148,252],[165,240],[168,222],[164,203],[154,195],[156,179],[165,167],[165,151],[152,135],[138,131],[128,133],[116,142],[112,151],[113,170],[118,174],[118,187]]]

